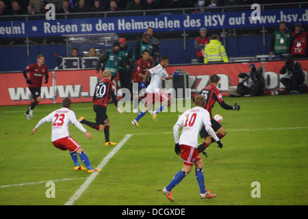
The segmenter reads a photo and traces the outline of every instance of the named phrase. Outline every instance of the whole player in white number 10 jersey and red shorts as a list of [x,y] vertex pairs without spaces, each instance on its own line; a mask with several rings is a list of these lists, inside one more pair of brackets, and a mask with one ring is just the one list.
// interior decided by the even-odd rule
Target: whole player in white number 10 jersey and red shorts
[[[222,143],[211,128],[209,112],[203,108],[205,105],[205,97],[203,95],[197,95],[194,98],[194,105],[194,108],[183,112],[173,127],[175,153],[181,155],[184,164],[183,168],[177,172],[169,185],[162,190],[163,194],[172,202],[174,201],[172,197],[172,188],[179,184],[182,179],[192,171],[193,165],[196,166],[195,174],[200,188],[201,199],[214,198],[216,196],[216,194],[209,192],[209,190],[205,190],[203,162],[197,151],[199,130],[204,125],[205,130],[207,130],[207,133],[216,140],[218,146],[222,146]],[[183,131],[179,138],[180,127],[183,127]]]

